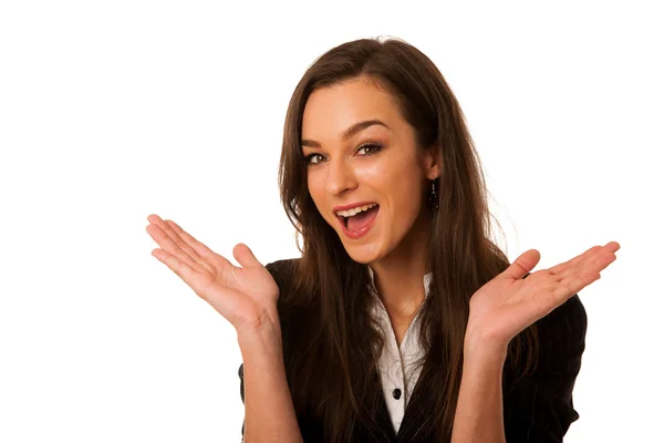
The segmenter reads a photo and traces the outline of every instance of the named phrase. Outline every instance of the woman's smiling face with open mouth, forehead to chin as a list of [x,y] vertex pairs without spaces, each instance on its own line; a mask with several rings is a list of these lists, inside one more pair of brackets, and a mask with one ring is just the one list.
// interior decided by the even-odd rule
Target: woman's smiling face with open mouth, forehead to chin
[[314,91],[301,142],[309,193],[353,260],[371,264],[408,248],[438,169],[390,93],[366,78]]

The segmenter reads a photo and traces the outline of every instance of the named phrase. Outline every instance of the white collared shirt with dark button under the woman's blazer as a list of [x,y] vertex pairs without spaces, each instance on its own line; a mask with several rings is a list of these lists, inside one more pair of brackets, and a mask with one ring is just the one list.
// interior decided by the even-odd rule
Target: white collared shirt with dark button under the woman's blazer
[[[375,296],[375,303],[372,312],[374,318],[378,320],[385,336],[385,346],[383,347],[381,359],[378,361],[383,395],[385,396],[385,403],[387,404],[387,411],[392,419],[394,432],[398,432],[406,405],[411,399],[412,390],[415,388],[421,372],[421,368],[416,368],[413,364],[422,357],[418,329],[421,309],[408,326],[401,346],[397,346],[394,329],[392,328],[392,322],[390,321],[385,306],[373,287],[373,270],[371,267],[369,268],[369,275],[371,276],[372,282],[370,289]],[[425,298],[429,295],[430,279],[432,274],[424,276]]]

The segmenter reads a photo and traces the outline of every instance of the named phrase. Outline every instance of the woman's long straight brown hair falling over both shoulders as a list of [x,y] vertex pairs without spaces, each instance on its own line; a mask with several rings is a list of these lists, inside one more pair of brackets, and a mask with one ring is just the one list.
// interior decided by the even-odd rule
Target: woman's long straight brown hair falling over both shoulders
[[[362,39],[333,48],[304,73],[288,107],[279,185],[302,239],[302,257],[292,261],[289,274],[294,278],[281,284],[279,299],[291,394],[298,415],[320,422],[325,441],[355,441],[360,429],[378,432],[374,418],[383,393],[375,377],[383,337],[369,313],[367,268],[351,259],[314,206],[300,146],[309,95],[357,76],[392,93],[415,128],[418,145],[442,153],[443,171],[435,183],[439,208],[432,215],[427,243],[433,278],[419,326],[426,357],[418,364],[430,412],[425,432],[447,441],[459,393],[469,299],[509,261],[490,239],[486,183],[459,104],[435,64],[401,40]],[[511,341],[510,361],[516,365],[527,357],[521,365],[526,373],[536,348],[531,327]]]

